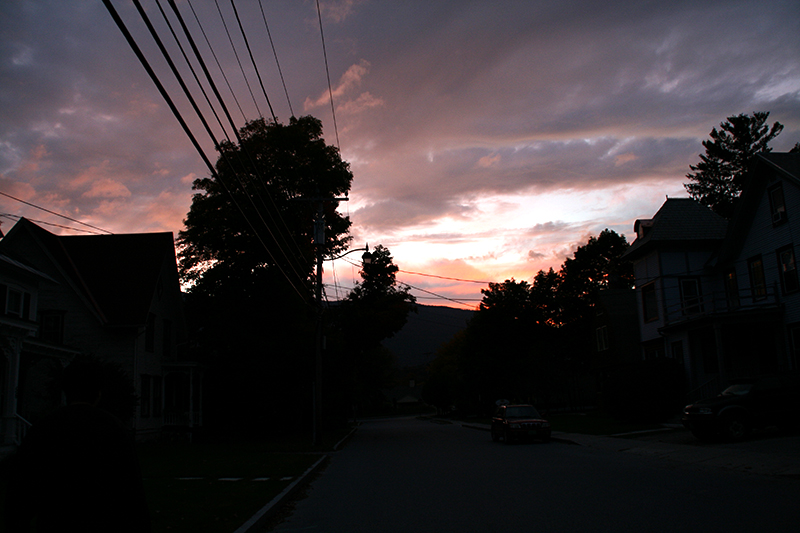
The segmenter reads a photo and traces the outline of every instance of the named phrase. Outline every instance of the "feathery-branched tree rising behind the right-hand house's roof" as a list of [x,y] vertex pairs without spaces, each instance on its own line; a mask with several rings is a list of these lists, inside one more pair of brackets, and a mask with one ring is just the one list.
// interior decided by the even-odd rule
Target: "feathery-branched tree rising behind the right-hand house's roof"
[[783,130],[779,122],[770,127],[768,118],[769,112],[735,115],[711,130],[711,139],[703,141],[706,153],[686,174],[690,183],[684,187],[692,198],[724,217],[733,215],[750,161],[759,152],[769,152],[767,144]]

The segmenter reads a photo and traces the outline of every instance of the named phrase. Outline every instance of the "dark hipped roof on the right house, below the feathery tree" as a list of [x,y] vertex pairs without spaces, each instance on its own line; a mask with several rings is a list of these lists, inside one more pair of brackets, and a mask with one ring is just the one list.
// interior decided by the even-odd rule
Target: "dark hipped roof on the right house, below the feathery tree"
[[633,259],[657,245],[706,244],[722,241],[728,221],[691,198],[667,198],[649,220],[636,221],[637,237],[624,257]]

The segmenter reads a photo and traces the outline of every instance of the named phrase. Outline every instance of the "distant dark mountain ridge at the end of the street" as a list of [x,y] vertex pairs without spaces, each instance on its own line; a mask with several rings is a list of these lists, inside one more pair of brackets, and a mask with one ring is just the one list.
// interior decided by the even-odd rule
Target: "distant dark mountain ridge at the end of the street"
[[466,309],[417,304],[417,313],[409,313],[403,329],[383,341],[383,346],[397,357],[401,368],[430,363],[442,344],[466,329],[474,313]]

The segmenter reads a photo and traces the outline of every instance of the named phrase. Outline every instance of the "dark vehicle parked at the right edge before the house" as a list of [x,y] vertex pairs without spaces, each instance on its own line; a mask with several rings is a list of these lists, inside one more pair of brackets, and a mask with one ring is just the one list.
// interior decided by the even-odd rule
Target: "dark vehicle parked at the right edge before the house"
[[800,426],[800,384],[788,376],[731,380],[722,394],[687,405],[681,422],[698,439],[741,440],[767,426]]

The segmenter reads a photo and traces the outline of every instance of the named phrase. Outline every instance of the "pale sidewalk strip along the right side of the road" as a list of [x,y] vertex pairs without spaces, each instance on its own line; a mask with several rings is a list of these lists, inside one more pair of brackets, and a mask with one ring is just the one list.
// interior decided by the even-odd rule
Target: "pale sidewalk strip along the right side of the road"
[[[488,424],[464,423],[462,427],[489,431]],[[653,432],[646,433],[653,434]],[[800,478],[800,448],[798,448],[796,454],[766,453],[722,443],[719,445],[697,446],[637,438],[621,438],[631,436],[633,435],[596,436],[554,431],[552,440],[588,448],[632,453],[710,468],[724,468],[764,476]]]

